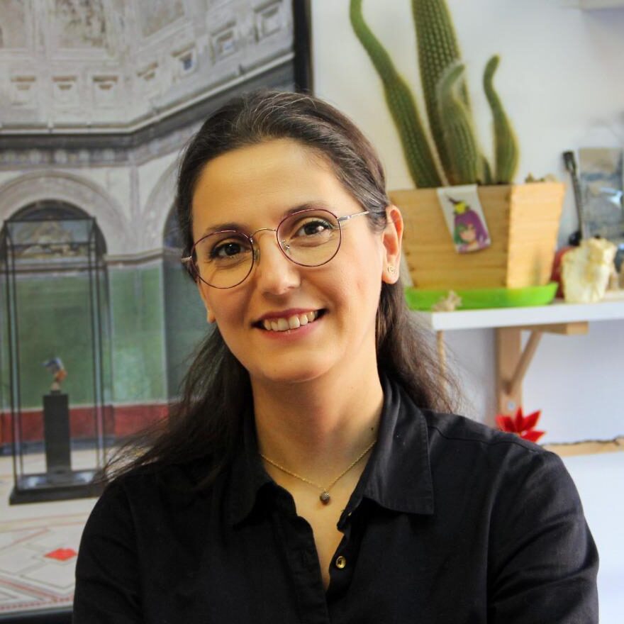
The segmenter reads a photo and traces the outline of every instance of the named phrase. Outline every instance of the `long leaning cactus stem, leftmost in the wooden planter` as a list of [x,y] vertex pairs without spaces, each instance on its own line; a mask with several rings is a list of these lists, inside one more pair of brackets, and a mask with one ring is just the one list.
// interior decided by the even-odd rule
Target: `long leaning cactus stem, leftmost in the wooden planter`
[[362,0],[351,0],[351,25],[360,43],[368,52],[377,73],[384,84],[388,108],[399,130],[408,169],[417,187],[440,186],[442,181],[420,120],[413,94],[399,72],[396,71],[388,52],[369,29],[362,15]]

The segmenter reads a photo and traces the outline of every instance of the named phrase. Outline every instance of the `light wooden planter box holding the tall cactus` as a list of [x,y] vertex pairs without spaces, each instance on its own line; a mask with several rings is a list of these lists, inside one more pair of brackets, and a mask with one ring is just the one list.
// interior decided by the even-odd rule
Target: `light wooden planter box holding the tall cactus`
[[457,253],[435,189],[392,191],[405,220],[403,253],[422,289],[522,288],[550,280],[564,184],[479,186],[491,247]]

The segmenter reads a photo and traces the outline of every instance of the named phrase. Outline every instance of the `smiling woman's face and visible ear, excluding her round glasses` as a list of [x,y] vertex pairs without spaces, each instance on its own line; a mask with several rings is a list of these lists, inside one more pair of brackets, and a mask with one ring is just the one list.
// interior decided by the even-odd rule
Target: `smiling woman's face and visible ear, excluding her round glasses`
[[[299,206],[339,217],[362,211],[329,165],[296,141],[241,147],[204,167],[193,197],[193,239],[223,224],[230,229],[235,223],[247,234],[277,228]],[[217,323],[252,382],[307,381],[346,367],[377,366],[379,292],[382,281],[398,279],[402,232],[399,211],[388,211],[381,233],[372,232],[367,216],[343,223],[340,250],[321,267],[294,264],[279,250],[275,233],[261,231],[254,236],[259,260],[243,283],[216,289],[198,282],[208,321]],[[297,321],[299,328],[281,330]]]

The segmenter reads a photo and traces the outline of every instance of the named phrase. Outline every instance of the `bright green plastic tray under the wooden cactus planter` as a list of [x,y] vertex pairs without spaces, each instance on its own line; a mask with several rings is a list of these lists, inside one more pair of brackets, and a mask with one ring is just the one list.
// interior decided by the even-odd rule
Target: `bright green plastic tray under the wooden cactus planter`
[[[457,310],[547,306],[555,299],[557,283],[525,288],[475,288],[455,292],[462,298],[462,305],[457,306]],[[448,294],[449,290],[405,289],[407,304],[412,310],[430,310]]]

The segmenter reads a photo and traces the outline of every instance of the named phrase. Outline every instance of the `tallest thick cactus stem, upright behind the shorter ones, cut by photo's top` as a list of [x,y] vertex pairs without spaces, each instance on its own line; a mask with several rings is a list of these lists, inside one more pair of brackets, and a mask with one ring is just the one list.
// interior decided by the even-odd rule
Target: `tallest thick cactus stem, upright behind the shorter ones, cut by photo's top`
[[[445,121],[440,118],[438,103],[438,84],[442,74],[450,65],[459,62],[455,28],[444,0],[412,0],[412,15],[416,28],[420,82],[423,86],[431,136],[438,150],[442,169],[450,184],[455,184],[450,176],[453,157],[444,137]],[[458,92],[462,104],[469,111],[468,89],[463,77],[458,84]]]

